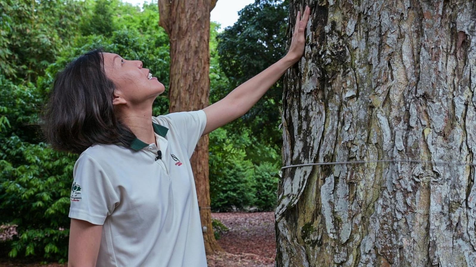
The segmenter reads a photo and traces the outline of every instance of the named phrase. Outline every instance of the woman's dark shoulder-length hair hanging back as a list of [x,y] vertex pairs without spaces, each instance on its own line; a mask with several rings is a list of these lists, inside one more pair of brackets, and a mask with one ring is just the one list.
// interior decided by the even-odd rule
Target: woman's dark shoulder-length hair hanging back
[[57,150],[82,153],[93,144],[129,144],[135,138],[114,114],[115,86],[104,72],[101,52],[78,57],[56,75],[41,124]]

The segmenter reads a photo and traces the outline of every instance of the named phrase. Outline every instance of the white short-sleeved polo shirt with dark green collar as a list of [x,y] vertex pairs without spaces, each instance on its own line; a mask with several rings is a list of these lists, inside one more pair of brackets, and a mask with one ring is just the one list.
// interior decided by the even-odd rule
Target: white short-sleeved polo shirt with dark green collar
[[189,162],[207,117],[199,110],[152,121],[159,147],[93,145],[74,166],[69,217],[103,225],[96,266],[207,266]]

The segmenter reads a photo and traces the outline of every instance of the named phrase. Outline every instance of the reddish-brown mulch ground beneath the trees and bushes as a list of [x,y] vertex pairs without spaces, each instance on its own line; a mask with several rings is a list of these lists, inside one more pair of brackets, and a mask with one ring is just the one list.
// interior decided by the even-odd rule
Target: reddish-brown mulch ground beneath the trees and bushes
[[[273,212],[212,213],[228,231],[218,244],[226,251],[207,256],[209,267],[272,267],[276,256]],[[66,267],[66,264],[28,263],[0,258],[0,267]]]

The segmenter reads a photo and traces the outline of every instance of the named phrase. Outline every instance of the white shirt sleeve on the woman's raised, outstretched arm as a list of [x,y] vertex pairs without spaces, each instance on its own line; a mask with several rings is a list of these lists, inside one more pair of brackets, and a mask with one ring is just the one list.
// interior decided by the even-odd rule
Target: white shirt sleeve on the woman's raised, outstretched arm
[[175,112],[165,115],[177,130],[180,140],[187,148],[188,158],[192,157],[198,140],[207,125],[207,115],[203,110],[189,112]]

